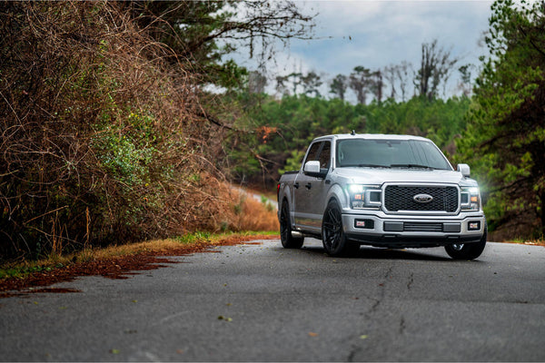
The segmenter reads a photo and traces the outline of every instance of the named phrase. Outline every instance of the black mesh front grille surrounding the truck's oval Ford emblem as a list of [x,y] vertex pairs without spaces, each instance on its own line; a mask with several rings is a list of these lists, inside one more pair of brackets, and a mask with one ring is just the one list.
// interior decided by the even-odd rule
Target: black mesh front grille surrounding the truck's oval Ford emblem
[[[428,194],[432,201],[414,201],[414,196]],[[384,190],[386,211],[458,211],[458,189],[450,186],[405,186],[388,185]]]

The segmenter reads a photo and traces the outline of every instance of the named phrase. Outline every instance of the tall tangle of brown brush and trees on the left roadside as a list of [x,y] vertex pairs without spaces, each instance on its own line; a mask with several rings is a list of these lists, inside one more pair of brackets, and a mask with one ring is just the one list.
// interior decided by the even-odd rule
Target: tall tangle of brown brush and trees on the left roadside
[[219,63],[229,47],[216,40],[307,18],[291,3],[268,17],[264,2],[240,6],[233,22],[236,5],[218,2],[0,4],[0,262],[275,228],[243,221],[254,207],[216,166],[226,129],[203,89],[243,73]]

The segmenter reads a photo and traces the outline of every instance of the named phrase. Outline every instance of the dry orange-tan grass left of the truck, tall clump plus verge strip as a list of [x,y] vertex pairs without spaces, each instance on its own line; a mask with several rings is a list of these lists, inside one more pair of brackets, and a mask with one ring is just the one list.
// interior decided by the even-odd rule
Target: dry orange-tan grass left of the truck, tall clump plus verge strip
[[[191,208],[195,211],[188,213],[188,217],[191,216],[192,220],[197,215],[209,217],[187,223],[197,228],[200,226],[203,228],[201,231],[180,229],[176,233],[179,237],[119,243],[104,248],[86,244],[84,249],[74,253],[57,253],[53,250],[38,260],[18,260],[0,265],[0,279],[71,266],[76,261],[104,261],[140,254],[172,255],[182,247],[183,250],[198,250],[249,240],[256,236],[274,237],[278,233],[276,208],[270,202],[257,201],[251,195],[235,190],[229,183],[216,178],[203,178],[202,182],[203,188],[195,189],[194,192],[202,193],[205,198],[200,197],[202,202],[193,203]],[[216,234],[208,231],[215,231]],[[218,232],[223,233],[217,234]]]

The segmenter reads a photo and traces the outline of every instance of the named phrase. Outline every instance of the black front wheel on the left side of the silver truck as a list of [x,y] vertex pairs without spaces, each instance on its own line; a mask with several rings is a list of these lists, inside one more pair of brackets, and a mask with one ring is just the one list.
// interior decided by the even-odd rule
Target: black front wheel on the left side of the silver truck
[[342,230],[342,212],[337,201],[330,201],[323,213],[322,244],[333,257],[352,255],[360,250],[360,245],[351,243]]

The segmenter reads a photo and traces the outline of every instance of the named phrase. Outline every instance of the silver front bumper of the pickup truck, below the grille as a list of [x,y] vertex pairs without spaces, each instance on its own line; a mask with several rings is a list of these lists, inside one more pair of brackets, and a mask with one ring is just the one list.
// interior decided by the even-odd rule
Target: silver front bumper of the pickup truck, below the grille
[[486,220],[481,213],[465,213],[455,218],[342,214],[342,227],[350,240],[361,244],[388,248],[437,247],[480,241]]

